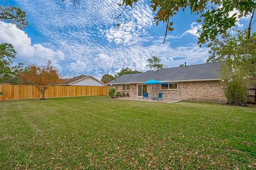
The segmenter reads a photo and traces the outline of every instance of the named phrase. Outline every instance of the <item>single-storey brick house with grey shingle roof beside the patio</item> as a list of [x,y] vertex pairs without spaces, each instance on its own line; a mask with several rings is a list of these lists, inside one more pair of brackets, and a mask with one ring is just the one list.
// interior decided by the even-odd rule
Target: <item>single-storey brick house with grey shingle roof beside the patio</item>
[[[221,78],[218,76],[220,67],[221,62],[166,69],[154,67],[154,70],[123,75],[107,84],[116,91],[129,93],[130,96],[142,97],[143,93],[148,92],[152,98],[162,92],[163,99],[225,102]],[[163,84],[143,84],[151,79]]]

